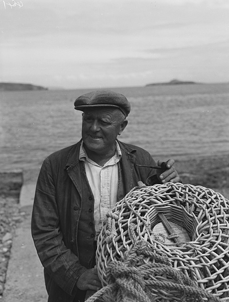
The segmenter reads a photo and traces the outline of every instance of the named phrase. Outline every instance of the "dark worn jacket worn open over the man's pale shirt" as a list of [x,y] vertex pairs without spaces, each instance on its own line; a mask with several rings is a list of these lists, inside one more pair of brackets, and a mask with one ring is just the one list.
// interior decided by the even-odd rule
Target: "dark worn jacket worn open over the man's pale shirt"
[[[86,178],[84,162],[79,161],[80,143],[46,158],[37,181],[32,236],[44,266],[50,302],[72,301],[77,291],[77,279],[86,269],[91,268],[92,263],[94,198]],[[119,163],[118,200],[138,186],[138,181],[147,185],[160,183],[154,169],[136,166],[155,165],[146,150],[120,141],[119,144],[122,158]],[[88,217],[88,221],[79,222],[79,217]],[[84,234],[78,232],[78,229],[83,229]],[[80,253],[78,244],[82,236],[85,240],[81,240],[80,249],[83,252]],[[86,252],[82,247],[83,242],[87,245]]]

